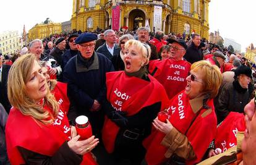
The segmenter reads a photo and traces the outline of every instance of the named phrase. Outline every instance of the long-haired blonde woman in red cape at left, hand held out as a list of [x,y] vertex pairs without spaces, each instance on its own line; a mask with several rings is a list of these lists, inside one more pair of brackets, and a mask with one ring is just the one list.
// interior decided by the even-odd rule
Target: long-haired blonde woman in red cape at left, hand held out
[[96,164],[90,151],[98,139],[78,141],[80,136],[50,93],[35,55],[14,62],[7,88],[13,106],[6,124],[11,164]]

